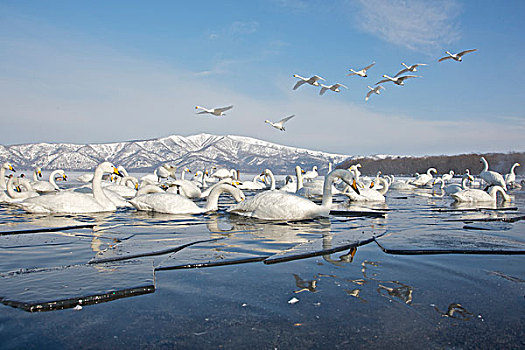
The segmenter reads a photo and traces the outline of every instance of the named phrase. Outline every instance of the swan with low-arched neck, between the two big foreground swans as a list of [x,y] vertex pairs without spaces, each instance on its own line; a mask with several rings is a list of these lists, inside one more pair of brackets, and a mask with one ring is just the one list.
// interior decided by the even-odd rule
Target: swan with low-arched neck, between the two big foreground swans
[[201,208],[190,199],[174,193],[150,193],[137,196],[129,202],[142,211],[153,211],[164,214],[201,214],[218,210],[219,196],[229,193],[237,202],[244,200],[244,193],[229,184],[216,186],[208,196],[206,206]]

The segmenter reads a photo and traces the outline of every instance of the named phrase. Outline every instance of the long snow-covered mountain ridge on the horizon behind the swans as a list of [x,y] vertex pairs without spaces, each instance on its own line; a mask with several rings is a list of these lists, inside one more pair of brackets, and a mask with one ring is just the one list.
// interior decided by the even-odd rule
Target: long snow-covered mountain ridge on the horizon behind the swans
[[0,161],[9,161],[22,169],[88,170],[102,161],[122,165],[129,170],[152,169],[169,163],[188,166],[192,171],[212,165],[258,172],[265,168],[275,173],[292,173],[295,165],[319,169],[351,158],[302,148],[288,147],[243,136],[198,134],[172,135],[159,139],[105,144],[35,143],[2,146]]

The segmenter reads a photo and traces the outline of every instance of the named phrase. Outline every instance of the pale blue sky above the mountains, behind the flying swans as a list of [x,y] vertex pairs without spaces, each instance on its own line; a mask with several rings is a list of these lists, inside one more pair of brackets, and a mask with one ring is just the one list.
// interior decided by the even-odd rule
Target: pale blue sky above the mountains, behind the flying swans
[[[0,143],[206,132],[355,155],[523,151],[524,14],[523,1],[0,1]],[[429,66],[365,102],[401,62]],[[293,74],[348,90],[293,91]],[[264,124],[290,114],[284,133]]]

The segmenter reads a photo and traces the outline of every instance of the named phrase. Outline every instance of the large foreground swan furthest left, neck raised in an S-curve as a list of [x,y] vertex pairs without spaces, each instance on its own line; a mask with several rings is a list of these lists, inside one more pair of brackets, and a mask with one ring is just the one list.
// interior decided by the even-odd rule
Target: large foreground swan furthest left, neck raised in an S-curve
[[97,166],[93,175],[93,194],[63,191],[29,198],[17,205],[29,213],[50,214],[81,214],[116,210],[102,190],[102,175],[113,173],[120,175],[118,169],[110,162]]

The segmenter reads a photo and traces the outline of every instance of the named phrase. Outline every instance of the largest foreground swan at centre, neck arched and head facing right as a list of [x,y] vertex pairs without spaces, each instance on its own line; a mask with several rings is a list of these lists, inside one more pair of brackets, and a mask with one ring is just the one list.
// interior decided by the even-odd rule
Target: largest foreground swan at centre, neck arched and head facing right
[[264,191],[228,209],[229,213],[263,220],[306,220],[328,217],[332,207],[332,186],[336,178],[352,184],[348,170],[336,169],[324,181],[321,205],[284,191]]

